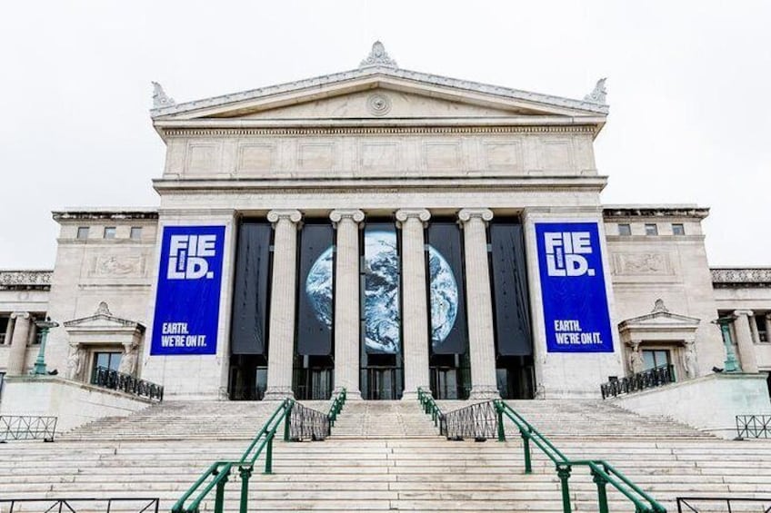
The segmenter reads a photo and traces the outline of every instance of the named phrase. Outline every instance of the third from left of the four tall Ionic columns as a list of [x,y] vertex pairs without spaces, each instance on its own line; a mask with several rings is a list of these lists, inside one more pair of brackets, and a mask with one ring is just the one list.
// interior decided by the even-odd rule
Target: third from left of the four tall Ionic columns
[[424,223],[431,218],[426,209],[396,212],[402,230],[402,332],[404,333],[405,390],[403,400],[414,400],[417,389],[429,389],[428,380],[428,292]]

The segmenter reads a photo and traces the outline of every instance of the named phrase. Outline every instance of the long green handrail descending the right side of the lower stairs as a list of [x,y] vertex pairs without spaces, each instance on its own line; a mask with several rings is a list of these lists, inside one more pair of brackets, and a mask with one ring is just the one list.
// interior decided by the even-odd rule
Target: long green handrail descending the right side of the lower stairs
[[599,513],[608,513],[606,486],[610,484],[616,488],[622,495],[628,498],[635,505],[636,513],[666,513],[666,508],[659,504],[655,498],[652,498],[644,490],[639,488],[624,474],[616,470],[613,466],[603,459],[568,459],[555,445],[546,439],[536,428],[522,417],[515,409],[511,408],[502,400],[494,401],[498,416],[498,441],[506,440],[506,430],[504,429],[504,419],[510,419],[519,429],[522,437],[523,452],[525,456],[525,473],[530,474],[533,471],[530,442],[536,444],[538,449],[551,459],[556,467],[556,474],[560,480],[562,488],[562,507],[564,513],[571,513],[570,489],[568,488],[568,479],[574,467],[588,467],[592,478],[597,486],[597,501],[599,503]]

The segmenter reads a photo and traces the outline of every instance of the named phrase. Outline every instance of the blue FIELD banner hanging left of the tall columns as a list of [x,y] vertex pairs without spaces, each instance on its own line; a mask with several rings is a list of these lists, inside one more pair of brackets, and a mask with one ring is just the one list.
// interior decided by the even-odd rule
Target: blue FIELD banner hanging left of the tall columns
[[166,226],[151,355],[215,354],[225,226]]

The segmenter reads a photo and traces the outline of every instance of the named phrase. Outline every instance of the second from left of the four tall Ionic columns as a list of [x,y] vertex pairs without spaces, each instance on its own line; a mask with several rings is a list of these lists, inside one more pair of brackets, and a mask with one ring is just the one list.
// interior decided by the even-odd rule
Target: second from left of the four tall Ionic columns
[[335,390],[361,399],[359,390],[359,222],[360,210],[329,214],[337,230],[335,245]]

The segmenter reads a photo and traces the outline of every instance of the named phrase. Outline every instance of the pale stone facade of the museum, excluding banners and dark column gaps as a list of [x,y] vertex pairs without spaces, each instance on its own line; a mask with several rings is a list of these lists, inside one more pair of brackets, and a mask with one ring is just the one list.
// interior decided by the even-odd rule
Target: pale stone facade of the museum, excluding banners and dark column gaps
[[[718,311],[745,312],[737,319],[746,330],[742,325],[736,336],[745,353],[756,348],[757,369],[771,370],[771,350],[762,345],[768,324],[758,329],[746,314],[765,312],[767,320],[771,296],[763,291],[771,289],[755,287],[755,274],[710,273],[701,232],[707,209],[601,204],[607,178],[596,169],[593,146],[608,110],[604,86],[597,87],[585,100],[571,100],[402,70],[380,56],[341,74],[186,104],[175,104],[157,85],[151,115],[167,148],[154,181],[159,208],[54,212],[61,232],[50,285],[40,276],[0,272],[0,313],[14,313],[9,326],[16,329],[9,330],[27,338],[27,312],[62,323],[50,334],[47,359],[70,379],[88,380],[95,354],[115,351],[123,355],[122,371],[163,384],[167,396],[224,399],[239,223],[270,222],[265,397],[290,396],[297,234],[306,222],[330,222],[335,280],[352,291],[335,296],[335,384],[357,397],[359,232],[368,219],[388,219],[398,226],[403,273],[403,391],[413,397],[431,385],[425,228],[449,219],[463,234],[466,384],[472,399],[496,397],[487,226],[516,219],[525,237],[536,398],[597,396],[609,376],[638,370],[641,350],[671,350],[681,376],[705,375],[724,359],[720,331],[710,322]],[[612,352],[546,350],[539,222],[598,226]],[[163,230],[196,225],[225,226],[216,352],[152,355]],[[731,280],[736,287],[723,286]],[[6,298],[6,289],[21,303]],[[651,313],[656,301],[672,311],[656,306]],[[21,352],[11,357],[5,346],[0,370],[19,367]],[[30,355],[23,355],[25,369]]]

